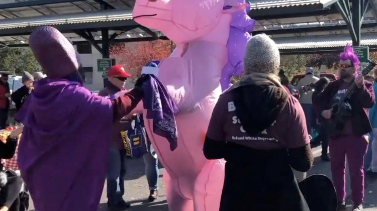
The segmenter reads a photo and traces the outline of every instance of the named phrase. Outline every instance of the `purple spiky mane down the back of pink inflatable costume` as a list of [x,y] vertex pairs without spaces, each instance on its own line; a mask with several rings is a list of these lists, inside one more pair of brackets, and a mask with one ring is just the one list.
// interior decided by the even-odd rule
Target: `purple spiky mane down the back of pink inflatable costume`
[[[232,0],[236,3],[245,3],[245,0]],[[230,9],[228,5],[224,10]],[[250,5],[245,10],[237,11],[232,14],[230,23],[229,38],[227,43],[228,62],[221,73],[221,88],[223,91],[230,87],[230,78],[233,75],[240,75],[243,72],[243,54],[246,50],[246,43],[251,38],[249,32],[254,28],[255,20],[251,19],[247,13]]]

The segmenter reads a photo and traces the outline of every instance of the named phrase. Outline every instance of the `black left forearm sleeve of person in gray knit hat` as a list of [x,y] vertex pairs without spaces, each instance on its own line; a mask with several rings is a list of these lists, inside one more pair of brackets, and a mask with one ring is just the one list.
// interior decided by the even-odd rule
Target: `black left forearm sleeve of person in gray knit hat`
[[215,141],[206,137],[206,139],[204,140],[203,153],[207,159],[211,160],[224,158],[225,152],[225,141]]

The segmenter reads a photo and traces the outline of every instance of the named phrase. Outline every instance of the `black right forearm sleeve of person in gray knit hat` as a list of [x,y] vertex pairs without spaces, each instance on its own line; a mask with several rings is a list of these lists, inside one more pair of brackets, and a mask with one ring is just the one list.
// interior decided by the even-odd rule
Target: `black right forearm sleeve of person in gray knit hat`
[[297,171],[307,172],[313,165],[313,153],[310,144],[288,150],[288,160],[292,168]]

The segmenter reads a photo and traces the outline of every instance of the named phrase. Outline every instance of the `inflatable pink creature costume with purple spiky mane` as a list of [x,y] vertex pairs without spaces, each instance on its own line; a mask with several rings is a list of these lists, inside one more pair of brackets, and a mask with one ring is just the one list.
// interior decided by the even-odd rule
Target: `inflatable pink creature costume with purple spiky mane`
[[[248,31],[254,26],[244,0],[137,0],[134,20],[158,29],[177,48],[159,64],[159,80],[176,102],[178,147],[170,150],[165,138],[147,133],[165,172],[166,197],[172,211],[218,211],[224,181],[224,160],[207,160],[203,141],[213,108],[242,72]],[[221,85],[220,85],[221,81]],[[140,112],[138,106],[135,112]]]

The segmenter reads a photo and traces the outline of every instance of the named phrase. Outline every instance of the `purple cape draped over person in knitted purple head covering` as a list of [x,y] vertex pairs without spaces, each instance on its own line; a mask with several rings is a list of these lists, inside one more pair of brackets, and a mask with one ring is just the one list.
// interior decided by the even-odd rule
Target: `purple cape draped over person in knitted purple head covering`
[[77,82],[44,78],[16,119],[18,165],[38,211],[96,211],[106,177],[111,101]]

